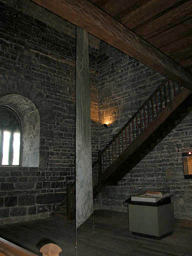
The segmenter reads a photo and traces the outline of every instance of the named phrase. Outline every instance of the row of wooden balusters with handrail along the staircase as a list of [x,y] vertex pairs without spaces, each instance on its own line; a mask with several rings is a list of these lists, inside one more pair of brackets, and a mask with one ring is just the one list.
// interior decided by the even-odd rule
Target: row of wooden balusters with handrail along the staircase
[[[178,93],[181,93],[180,90],[180,84],[171,83],[168,79],[165,79],[154,90],[148,99],[112,138],[108,145],[106,145],[102,151],[98,152],[98,160],[96,161],[96,164],[98,165],[98,172],[94,173],[98,178],[94,178],[93,180],[97,180],[97,182],[99,182],[99,177],[104,174],[105,170],[110,167],[110,165],[113,164],[113,162],[127,149],[127,147],[133,143],[137,136],[142,135],[145,132],[151,122],[156,121],[156,118],[163,109],[171,103]],[[183,97],[190,94],[186,89],[183,90],[182,93]],[[147,151],[144,152],[143,155],[146,153]],[[134,164],[135,163],[133,163],[132,166],[134,166]],[[95,164],[93,164],[93,166],[95,166]]]

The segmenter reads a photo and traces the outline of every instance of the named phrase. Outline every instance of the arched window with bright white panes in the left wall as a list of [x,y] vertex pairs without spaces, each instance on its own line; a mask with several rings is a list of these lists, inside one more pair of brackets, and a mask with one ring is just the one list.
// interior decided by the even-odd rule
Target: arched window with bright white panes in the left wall
[[19,165],[20,130],[17,114],[0,106],[0,165]]

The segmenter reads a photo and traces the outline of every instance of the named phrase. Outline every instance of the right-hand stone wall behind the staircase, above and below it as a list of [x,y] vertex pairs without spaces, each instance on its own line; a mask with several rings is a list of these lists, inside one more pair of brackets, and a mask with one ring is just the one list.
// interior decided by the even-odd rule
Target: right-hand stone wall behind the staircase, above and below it
[[[101,43],[98,59],[100,147],[112,138],[164,77],[119,50]],[[127,211],[124,201],[132,194],[169,188],[174,216],[192,219],[192,181],[184,179],[182,152],[192,149],[192,113],[148,153],[117,186],[103,188],[95,208]],[[110,123],[111,121],[111,123]]]

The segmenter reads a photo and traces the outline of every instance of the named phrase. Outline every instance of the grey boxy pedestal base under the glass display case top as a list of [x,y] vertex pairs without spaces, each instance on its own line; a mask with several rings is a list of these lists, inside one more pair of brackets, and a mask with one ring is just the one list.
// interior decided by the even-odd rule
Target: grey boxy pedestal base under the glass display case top
[[129,231],[133,234],[160,239],[173,230],[172,203],[159,206],[139,202],[128,204]]

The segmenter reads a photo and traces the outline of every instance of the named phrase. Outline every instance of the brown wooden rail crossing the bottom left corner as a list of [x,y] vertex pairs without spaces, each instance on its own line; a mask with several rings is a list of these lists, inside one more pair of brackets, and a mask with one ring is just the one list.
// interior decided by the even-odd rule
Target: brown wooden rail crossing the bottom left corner
[[0,237],[0,253],[5,256],[38,256]]

